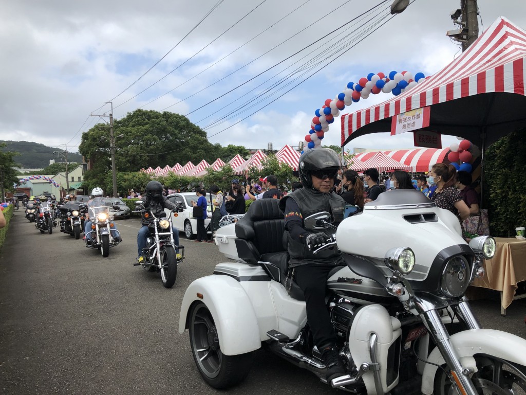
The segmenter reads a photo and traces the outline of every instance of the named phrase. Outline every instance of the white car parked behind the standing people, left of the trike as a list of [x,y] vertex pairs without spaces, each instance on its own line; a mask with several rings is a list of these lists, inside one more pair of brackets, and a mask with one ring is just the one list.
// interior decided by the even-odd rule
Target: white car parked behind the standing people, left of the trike
[[[197,236],[197,220],[192,216],[193,205],[192,201],[197,203],[197,195],[195,192],[180,192],[173,193],[167,196],[168,200],[172,203],[183,202],[184,211],[177,213],[177,216],[172,217],[174,227],[179,232],[185,232],[187,239],[195,239]],[[212,219],[212,209],[210,204],[210,199],[212,201],[215,199],[216,195],[206,194],[206,200],[208,202],[206,211],[207,219],[205,220],[205,228],[207,234],[211,234],[210,221]],[[165,209],[166,215],[170,215],[170,210]]]

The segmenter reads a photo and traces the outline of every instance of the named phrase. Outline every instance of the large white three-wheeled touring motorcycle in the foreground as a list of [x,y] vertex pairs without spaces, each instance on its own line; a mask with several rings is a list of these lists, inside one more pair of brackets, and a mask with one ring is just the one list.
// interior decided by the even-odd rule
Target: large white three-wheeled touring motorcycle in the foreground
[[[288,269],[284,214],[273,199],[217,231],[219,250],[237,262],[191,283],[179,333],[189,329],[197,369],[214,388],[243,380],[252,351],[266,347],[322,382],[304,294]],[[482,329],[464,292],[495,253],[490,236],[461,237],[460,223],[422,193],[382,193],[331,229],[330,213],[304,219],[332,236],[345,265],[327,280],[327,309],[347,375],[332,388],[360,394],[523,394],[526,340]]]

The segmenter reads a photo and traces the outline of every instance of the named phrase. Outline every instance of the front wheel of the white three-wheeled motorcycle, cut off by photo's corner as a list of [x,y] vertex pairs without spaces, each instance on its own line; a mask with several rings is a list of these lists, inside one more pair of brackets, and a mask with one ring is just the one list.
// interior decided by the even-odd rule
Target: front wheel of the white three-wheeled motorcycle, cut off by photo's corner
[[[526,394],[526,368],[515,366],[506,360],[477,355],[478,372],[473,373],[471,381],[480,395],[524,395]],[[442,370],[437,371],[434,379],[434,395],[457,395],[449,376]]]

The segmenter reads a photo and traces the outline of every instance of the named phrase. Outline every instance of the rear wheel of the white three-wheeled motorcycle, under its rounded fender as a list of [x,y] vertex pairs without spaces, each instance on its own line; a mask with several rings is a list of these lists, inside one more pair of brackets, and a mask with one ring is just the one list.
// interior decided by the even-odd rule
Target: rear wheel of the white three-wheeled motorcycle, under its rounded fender
[[216,324],[202,302],[190,310],[190,347],[199,373],[214,388],[235,386],[247,377],[251,354],[226,356],[221,352]]

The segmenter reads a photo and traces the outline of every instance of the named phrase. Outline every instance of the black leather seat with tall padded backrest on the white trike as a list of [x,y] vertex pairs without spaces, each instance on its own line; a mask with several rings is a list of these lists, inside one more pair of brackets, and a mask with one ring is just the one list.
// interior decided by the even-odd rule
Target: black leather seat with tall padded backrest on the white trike
[[288,274],[289,254],[284,243],[285,218],[279,200],[261,199],[250,204],[247,213],[236,223],[236,248],[239,258],[257,264],[269,262],[266,270],[289,291],[292,298],[305,300],[303,291]]

